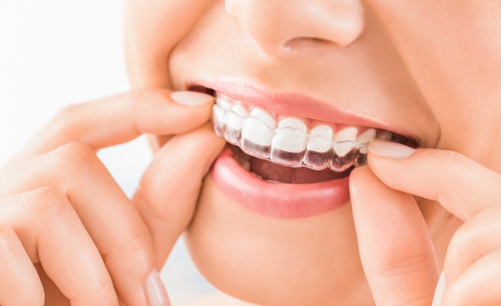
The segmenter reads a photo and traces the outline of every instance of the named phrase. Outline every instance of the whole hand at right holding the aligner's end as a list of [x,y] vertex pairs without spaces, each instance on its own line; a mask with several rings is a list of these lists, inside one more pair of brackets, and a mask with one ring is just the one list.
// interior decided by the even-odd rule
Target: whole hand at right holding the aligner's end
[[[444,261],[443,306],[501,304],[501,175],[452,151],[374,141],[350,177],[362,265],[376,305],[432,302],[439,270],[411,195],[465,221]],[[370,169],[369,169],[370,168]]]

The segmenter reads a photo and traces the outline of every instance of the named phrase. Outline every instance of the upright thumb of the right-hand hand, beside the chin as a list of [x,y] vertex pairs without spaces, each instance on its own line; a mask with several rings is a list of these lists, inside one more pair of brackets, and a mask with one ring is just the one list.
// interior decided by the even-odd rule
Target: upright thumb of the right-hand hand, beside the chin
[[384,185],[368,167],[350,174],[360,258],[378,306],[430,305],[438,268],[414,200]]

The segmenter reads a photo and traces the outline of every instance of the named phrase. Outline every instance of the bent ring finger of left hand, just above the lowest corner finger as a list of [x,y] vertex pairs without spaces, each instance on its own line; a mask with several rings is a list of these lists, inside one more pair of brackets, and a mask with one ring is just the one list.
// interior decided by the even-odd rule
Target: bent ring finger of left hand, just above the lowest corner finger
[[101,255],[61,192],[40,188],[3,198],[0,223],[12,226],[72,305],[118,305]]

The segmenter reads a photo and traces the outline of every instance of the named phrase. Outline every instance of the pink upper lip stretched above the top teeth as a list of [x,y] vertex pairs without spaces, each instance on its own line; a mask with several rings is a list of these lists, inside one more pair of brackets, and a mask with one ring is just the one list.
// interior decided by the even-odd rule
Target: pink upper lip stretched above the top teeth
[[253,83],[236,80],[220,80],[217,82],[196,80],[186,83],[187,89],[194,86],[215,90],[242,103],[261,107],[273,113],[384,129],[411,138],[417,142],[418,146],[422,144],[419,135],[403,126],[389,125],[379,118],[343,110],[332,103],[317,100],[300,93],[277,93]]

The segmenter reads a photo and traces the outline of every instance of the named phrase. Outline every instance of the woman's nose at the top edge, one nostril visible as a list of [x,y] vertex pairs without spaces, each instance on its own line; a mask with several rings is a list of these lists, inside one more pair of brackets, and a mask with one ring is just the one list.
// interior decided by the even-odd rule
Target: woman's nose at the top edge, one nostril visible
[[346,47],[365,23],[360,0],[226,0],[225,9],[270,56]]

